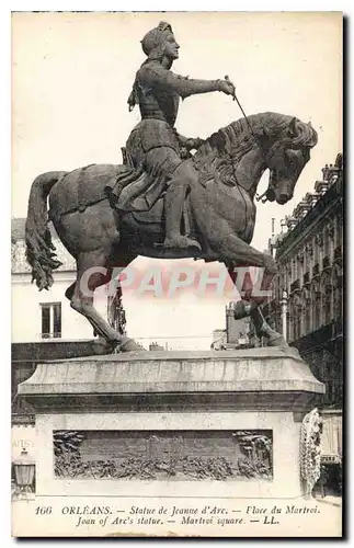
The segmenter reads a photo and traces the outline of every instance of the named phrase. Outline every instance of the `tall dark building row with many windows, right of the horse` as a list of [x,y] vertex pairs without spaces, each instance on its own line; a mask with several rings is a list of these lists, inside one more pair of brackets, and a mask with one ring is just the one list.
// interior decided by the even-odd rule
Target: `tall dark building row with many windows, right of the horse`
[[[282,233],[271,239],[278,274],[265,318],[283,332],[326,385],[322,460],[342,455],[343,387],[343,160],[322,169]],[[286,332],[284,333],[284,328]],[[338,473],[338,472],[335,472]]]

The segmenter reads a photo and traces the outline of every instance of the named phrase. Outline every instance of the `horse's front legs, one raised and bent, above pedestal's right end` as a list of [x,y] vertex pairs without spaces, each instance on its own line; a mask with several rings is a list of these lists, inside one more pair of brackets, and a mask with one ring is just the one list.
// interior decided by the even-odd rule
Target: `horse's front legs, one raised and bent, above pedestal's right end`
[[[265,321],[259,308],[267,300],[272,279],[277,271],[276,263],[271,255],[266,255],[243,242],[237,236],[230,235],[221,246],[222,258],[228,269],[232,283],[238,285],[241,299],[235,307],[235,319],[250,316],[253,321],[255,333],[259,338],[265,336],[270,346],[287,345],[281,333],[275,331]],[[254,284],[248,267],[256,266],[263,269],[262,284]],[[241,279],[239,274],[243,274]]]

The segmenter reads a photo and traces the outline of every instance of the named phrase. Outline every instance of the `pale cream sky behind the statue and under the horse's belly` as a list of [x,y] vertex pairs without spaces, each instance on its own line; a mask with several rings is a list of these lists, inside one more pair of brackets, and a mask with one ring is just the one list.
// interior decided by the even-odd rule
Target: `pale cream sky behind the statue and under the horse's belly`
[[[25,217],[31,184],[45,171],[121,163],[121,147],[139,121],[128,112],[140,39],[167,20],[181,46],[173,70],[191,78],[228,75],[247,114],[274,111],[311,122],[319,144],[285,206],[259,204],[252,244],[264,250],[321,168],[342,151],[342,20],[340,13],[15,13],[12,15],[12,216]],[[221,93],[186,99],[176,127],[205,138],[242,116]],[[259,190],[265,190],[267,174]],[[156,260],[137,259],[138,270]],[[172,262],[164,261],[164,269]],[[191,264],[186,261],[183,264]],[[203,269],[203,263],[198,263]],[[208,266],[206,266],[208,269]],[[207,349],[225,327],[228,295],[174,299],[124,297],[128,334]],[[158,304],[158,306],[157,306]],[[142,340],[144,339],[144,340]]]

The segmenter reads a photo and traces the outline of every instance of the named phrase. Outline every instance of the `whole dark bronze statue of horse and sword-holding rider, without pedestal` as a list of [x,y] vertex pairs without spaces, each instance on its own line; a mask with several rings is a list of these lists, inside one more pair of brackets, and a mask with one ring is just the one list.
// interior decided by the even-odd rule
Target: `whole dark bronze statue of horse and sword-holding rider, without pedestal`
[[[250,246],[258,184],[269,170],[264,199],[286,204],[317,144],[310,124],[273,112],[243,116],[205,140],[180,135],[175,121],[181,98],[222,92],[236,99],[235,85],[228,77],[195,80],[173,73],[180,46],[168,23],[148,32],[141,46],[147,59],[128,98],[129,110],[139,106],[141,121],[122,148],[123,164],[43,173],[28,199],[25,238],[33,279],[39,290],[48,289],[53,271],[60,266],[52,220],[77,261],[77,279],[66,297],[99,335],[98,353],[139,350],[93,306],[94,289],[110,282],[116,266],[126,267],[138,255],[219,261],[233,282],[238,266],[262,267],[263,286],[269,287],[276,264]],[[80,282],[89,269],[85,293]],[[270,345],[286,344],[264,320],[261,304],[261,297],[245,290],[235,307],[236,318],[251,316],[259,336]]]

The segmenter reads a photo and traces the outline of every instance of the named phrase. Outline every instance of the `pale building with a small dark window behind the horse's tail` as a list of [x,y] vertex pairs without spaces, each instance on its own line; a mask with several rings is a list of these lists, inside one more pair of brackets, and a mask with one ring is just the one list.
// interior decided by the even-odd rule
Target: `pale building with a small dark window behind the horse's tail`
[[[39,292],[32,283],[31,266],[25,258],[25,219],[12,219],[11,294],[12,294],[12,422],[32,424],[32,411],[16,397],[18,385],[34,373],[43,361],[87,355],[93,330],[85,318],[75,312],[65,297],[76,279],[76,261],[52,229],[53,243],[61,266],[53,273],[49,290]],[[106,288],[95,294],[94,305],[111,326],[125,333],[125,312],[119,292],[109,296]]]

